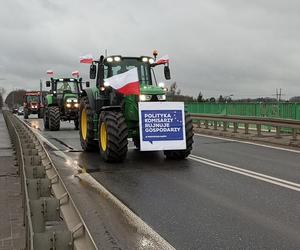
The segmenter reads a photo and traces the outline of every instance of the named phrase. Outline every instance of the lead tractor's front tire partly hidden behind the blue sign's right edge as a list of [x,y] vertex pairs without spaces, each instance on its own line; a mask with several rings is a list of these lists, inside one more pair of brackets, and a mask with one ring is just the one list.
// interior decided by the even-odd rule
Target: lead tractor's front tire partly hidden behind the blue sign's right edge
[[167,159],[182,160],[188,157],[193,149],[193,121],[189,114],[185,114],[185,139],[186,149],[184,150],[165,150],[164,154]]

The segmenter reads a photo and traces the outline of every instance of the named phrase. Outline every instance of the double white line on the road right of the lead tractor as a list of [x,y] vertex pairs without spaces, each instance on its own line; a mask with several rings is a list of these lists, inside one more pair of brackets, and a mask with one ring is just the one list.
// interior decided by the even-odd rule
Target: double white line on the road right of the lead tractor
[[276,177],[272,177],[272,176],[269,176],[269,175],[257,173],[257,172],[250,171],[250,170],[246,170],[246,169],[239,168],[239,167],[236,167],[236,166],[232,166],[232,165],[229,165],[229,164],[224,164],[224,163],[221,163],[221,162],[213,161],[213,160],[203,158],[203,157],[199,157],[199,156],[196,156],[196,155],[190,155],[188,158],[193,160],[193,161],[201,162],[201,163],[204,163],[204,164],[212,166],[212,167],[224,169],[224,170],[227,170],[227,171],[231,171],[231,172],[234,172],[234,173],[245,175],[245,176],[257,179],[257,180],[272,183],[274,185],[278,185],[278,186],[281,186],[281,187],[285,187],[285,188],[292,189],[292,190],[300,192],[300,184],[299,183],[286,181],[286,180],[283,180],[283,179],[280,179],[280,178],[276,178]]

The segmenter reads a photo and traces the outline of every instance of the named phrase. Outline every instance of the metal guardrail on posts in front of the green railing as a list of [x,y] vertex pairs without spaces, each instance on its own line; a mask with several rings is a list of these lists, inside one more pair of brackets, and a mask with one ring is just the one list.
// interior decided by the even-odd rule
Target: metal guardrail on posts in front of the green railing
[[281,128],[289,128],[292,131],[293,140],[297,140],[297,131],[300,129],[300,121],[292,119],[279,118],[259,118],[245,116],[226,116],[226,115],[207,115],[207,114],[191,114],[194,123],[201,127],[201,122],[205,128],[209,128],[209,122],[212,122],[214,130],[218,129],[221,123],[223,131],[227,131],[229,123],[233,124],[233,133],[237,133],[239,124],[244,124],[245,134],[249,134],[249,125],[256,125],[257,136],[262,135],[262,126],[271,126],[276,129],[276,137],[281,137]]

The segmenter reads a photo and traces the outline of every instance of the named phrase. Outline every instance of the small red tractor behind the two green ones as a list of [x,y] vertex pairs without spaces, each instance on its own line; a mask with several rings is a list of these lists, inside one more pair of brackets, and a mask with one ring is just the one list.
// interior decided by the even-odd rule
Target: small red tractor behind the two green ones
[[44,116],[44,105],[40,91],[29,91],[23,96],[24,119],[31,114],[37,114],[38,118]]

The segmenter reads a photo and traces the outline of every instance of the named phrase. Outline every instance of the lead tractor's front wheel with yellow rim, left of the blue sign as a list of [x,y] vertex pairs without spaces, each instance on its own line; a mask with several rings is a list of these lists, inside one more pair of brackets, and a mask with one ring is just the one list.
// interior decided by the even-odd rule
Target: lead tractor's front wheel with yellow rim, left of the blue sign
[[128,129],[123,114],[115,111],[101,112],[98,133],[100,153],[104,161],[122,162],[128,150]]

